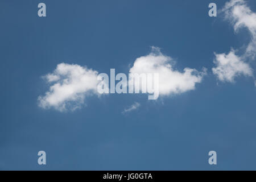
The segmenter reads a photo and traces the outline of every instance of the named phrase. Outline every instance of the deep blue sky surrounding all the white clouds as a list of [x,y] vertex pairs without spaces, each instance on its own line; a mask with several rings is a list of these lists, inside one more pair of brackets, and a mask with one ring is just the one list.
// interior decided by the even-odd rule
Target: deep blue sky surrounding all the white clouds
[[[0,2],[0,169],[256,169],[255,74],[221,81],[212,71],[214,52],[231,48],[255,69],[245,51],[254,42],[252,23],[234,30],[225,13],[209,17],[208,0],[44,0],[43,18],[40,2]],[[228,1],[214,2],[219,10]],[[256,12],[253,0],[245,2]],[[207,75],[195,89],[157,101],[92,94],[75,111],[39,106],[51,85],[42,76],[58,64],[127,74],[151,46],[172,57],[176,71],[205,67]],[[123,114],[134,103],[139,107]],[[41,150],[46,166],[37,163]],[[208,164],[211,150],[217,166]]]

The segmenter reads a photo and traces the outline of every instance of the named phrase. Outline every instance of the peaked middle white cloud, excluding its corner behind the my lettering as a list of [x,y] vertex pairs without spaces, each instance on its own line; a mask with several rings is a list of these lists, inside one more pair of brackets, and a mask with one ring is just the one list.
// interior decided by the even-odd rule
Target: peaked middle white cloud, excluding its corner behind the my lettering
[[163,55],[158,47],[152,47],[149,55],[135,60],[130,73],[158,73],[159,95],[169,96],[195,89],[196,83],[200,83],[206,74],[206,68],[202,72],[191,68],[179,72],[174,69],[171,57]]

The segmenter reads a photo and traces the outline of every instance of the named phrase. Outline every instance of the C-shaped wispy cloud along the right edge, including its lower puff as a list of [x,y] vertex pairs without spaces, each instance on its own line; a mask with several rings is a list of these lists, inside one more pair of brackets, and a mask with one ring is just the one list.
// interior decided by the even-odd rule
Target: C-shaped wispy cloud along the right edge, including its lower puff
[[232,49],[228,55],[225,53],[215,54],[214,64],[216,67],[212,69],[214,75],[220,81],[234,82],[237,76],[253,76],[253,69],[246,63],[249,59],[254,59],[256,49],[256,14],[247,6],[244,0],[231,0],[227,2],[221,10],[237,32],[240,28],[247,28],[251,35],[245,53],[237,56]]

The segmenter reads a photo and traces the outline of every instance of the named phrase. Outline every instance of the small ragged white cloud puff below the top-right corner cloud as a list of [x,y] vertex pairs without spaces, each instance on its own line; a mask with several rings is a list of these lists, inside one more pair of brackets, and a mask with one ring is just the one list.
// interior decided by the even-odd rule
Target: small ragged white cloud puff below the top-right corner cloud
[[253,70],[249,64],[241,61],[241,57],[235,55],[234,50],[230,51],[228,55],[225,53],[215,54],[214,64],[212,68],[214,75],[222,82],[234,82],[234,78],[238,76],[253,76]]

